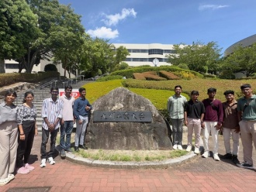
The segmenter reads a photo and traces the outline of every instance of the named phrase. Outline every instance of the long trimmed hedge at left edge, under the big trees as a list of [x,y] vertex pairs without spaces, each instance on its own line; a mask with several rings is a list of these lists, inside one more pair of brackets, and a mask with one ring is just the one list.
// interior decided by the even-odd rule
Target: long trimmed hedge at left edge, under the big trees
[[0,86],[3,87],[9,84],[16,84],[18,82],[37,83],[50,77],[60,77],[60,73],[51,71],[39,74],[0,74]]

